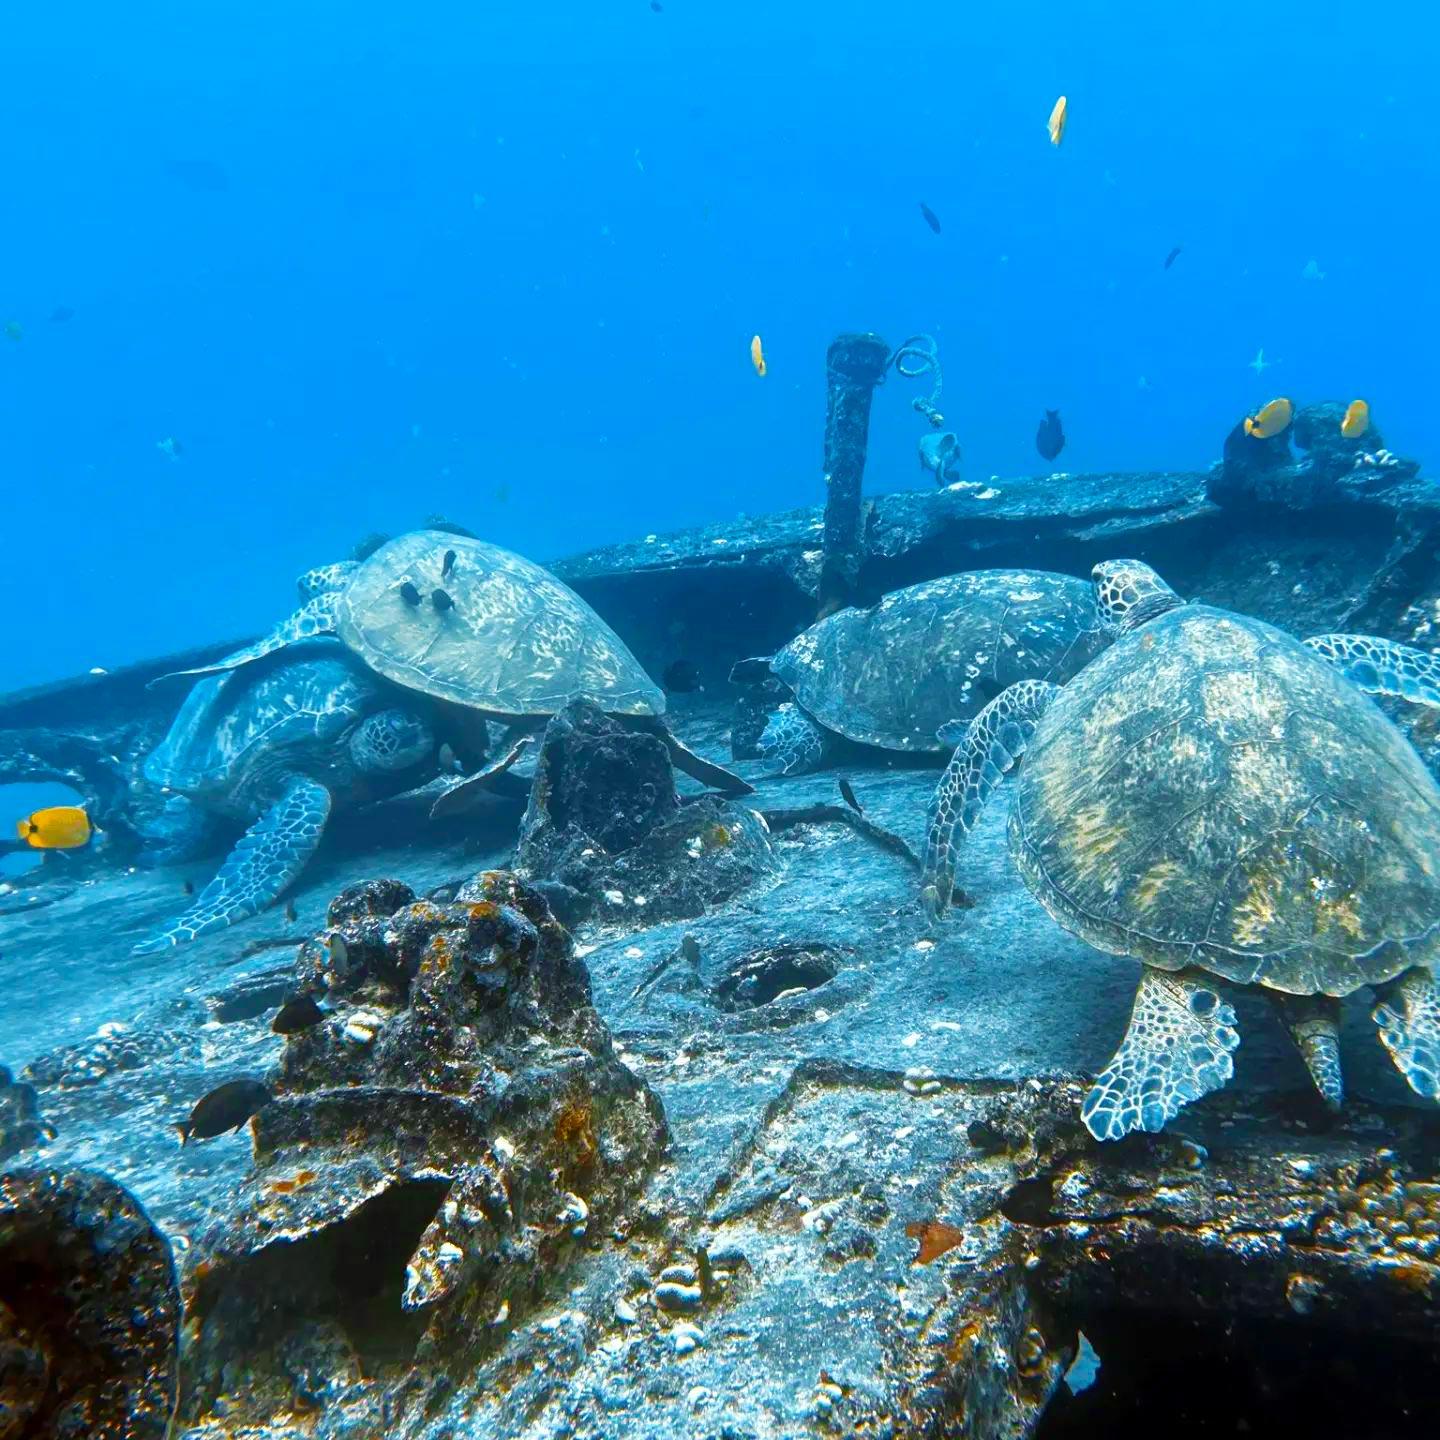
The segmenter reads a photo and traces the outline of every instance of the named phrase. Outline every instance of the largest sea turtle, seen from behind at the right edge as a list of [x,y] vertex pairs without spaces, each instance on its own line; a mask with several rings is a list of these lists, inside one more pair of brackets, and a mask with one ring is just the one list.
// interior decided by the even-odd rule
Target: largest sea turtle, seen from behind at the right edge
[[1339,998],[1374,986],[1391,1060],[1440,1100],[1440,788],[1361,693],[1423,696],[1431,657],[1348,635],[1312,649],[1185,605],[1136,560],[1094,582],[1115,645],[1064,688],[1011,687],[956,749],[930,811],[927,909],[949,901],[960,842],[1024,753],[1021,876],[1068,930],[1145,966],[1081,1110],[1097,1139],[1158,1130],[1230,1079],[1240,1035],[1212,976],[1270,992],[1336,1107]]

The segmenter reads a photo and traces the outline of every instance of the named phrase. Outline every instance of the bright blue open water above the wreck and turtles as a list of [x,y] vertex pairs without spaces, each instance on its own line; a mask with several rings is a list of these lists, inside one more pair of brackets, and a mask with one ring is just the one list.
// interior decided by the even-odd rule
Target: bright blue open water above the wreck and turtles
[[[847,328],[937,337],[969,477],[1050,468],[1045,408],[1070,471],[1204,467],[1273,393],[1433,461],[1437,39],[1313,0],[14,7],[0,688],[255,632],[436,511],[544,560],[814,503]],[[929,484],[907,400],[871,490]]]

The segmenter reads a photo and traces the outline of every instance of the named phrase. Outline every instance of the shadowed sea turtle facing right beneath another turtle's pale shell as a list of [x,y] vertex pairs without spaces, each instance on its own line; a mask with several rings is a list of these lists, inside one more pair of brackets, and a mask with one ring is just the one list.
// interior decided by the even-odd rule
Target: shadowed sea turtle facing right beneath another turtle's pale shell
[[184,914],[135,953],[255,914],[304,870],[336,804],[429,779],[433,711],[327,638],[199,680],[145,760],[145,779],[249,829]]

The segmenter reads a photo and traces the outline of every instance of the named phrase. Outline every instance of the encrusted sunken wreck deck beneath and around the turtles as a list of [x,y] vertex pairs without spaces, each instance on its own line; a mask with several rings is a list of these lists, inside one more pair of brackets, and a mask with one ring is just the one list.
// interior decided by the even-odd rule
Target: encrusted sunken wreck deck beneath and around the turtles
[[[887,495],[867,505],[857,598],[1126,554],[1296,634],[1431,648],[1428,481],[1225,510],[1212,490],[1151,474]],[[671,720],[727,762],[724,677],[814,619],[821,524],[757,517],[553,570],[652,674],[698,665],[704,690]],[[0,780],[76,785],[115,815],[122,858],[138,759],[173,704],[145,683],[174,664],[0,698]],[[736,768],[756,792],[732,805],[832,804],[844,776],[870,819],[923,837],[933,769]],[[772,827],[729,899],[665,891],[655,860],[562,927],[533,876],[507,874],[518,822],[500,802],[439,825],[379,806],[327,842],[292,922],[275,909],[143,958],[131,943],[203,864],[56,857],[0,896],[16,1077],[0,1156],[24,1176],[0,1250],[72,1256],[99,1236],[122,1191],[81,1207],[73,1181],[36,1178],[92,1171],[174,1257],[171,1280],[153,1251],[86,1241],[121,1254],[98,1264],[121,1266],[130,1296],[107,1351],[128,1428],[94,1433],[163,1436],[174,1404],[192,1437],[992,1440],[1139,1433],[1165,1404],[1175,1433],[1201,1433],[1279,1424],[1306,1382],[1329,1385],[1342,1430],[1354,1413],[1421,1433],[1405,1426],[1427,1423],[1440,1381],[1440,1113],[1410,1103],[1358,999],[1338,1120],[1267,1007],[1240,996],[1234,1083],[1161,1135],[1100,1146],[1080,1097],[1138,966],[1050,920],[1002,808],[969,857],[973,909],[940,927],[901,855],[832,822]],[[353,888],[379,880],[408,888]],[[282,1040],[274,1008],[327,930],[370,969],[334,1002],[331,1040]],[[386,966],[405,956],[396,991]],[[180,1148],[171,1128],[240,1074],[279,1076],[281,1099]],[[464,1100],[456,1074],[478,1077]],[[26,1297],[0,1283],[0,1299]],[[1089,1388],[1063,1378],[1081,1332],[1102,1365]],[[1208,1398],[1161,1398],[1176,1335]],[[1338,1351],[1358,1377],[1384,1355],[1387,1384],[1329,1374]]]

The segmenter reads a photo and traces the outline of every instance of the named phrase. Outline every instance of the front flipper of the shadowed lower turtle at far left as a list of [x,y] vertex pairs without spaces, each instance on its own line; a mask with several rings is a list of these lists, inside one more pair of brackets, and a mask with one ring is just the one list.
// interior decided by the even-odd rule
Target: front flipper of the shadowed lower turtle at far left
[[239,838],[194,904],[166,930],[143,940],[132,955],[154,955],[223,930],[271,904],[305,868],[330,818],[330,791],[305,776]]

